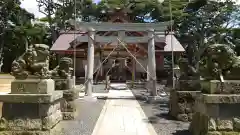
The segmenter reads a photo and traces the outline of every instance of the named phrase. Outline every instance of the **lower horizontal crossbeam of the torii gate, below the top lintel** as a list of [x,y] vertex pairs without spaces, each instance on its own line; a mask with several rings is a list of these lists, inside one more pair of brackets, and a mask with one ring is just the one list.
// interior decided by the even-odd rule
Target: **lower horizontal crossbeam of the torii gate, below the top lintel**
[[[118,42],[118,36],[95,36],[95,42],[98,43],[111,43],[111,42]],[[147,43],[149,40],[149,37],[143,36],[143,37],[124,37],[122,39],[122,42],[125,43]],[[77,37],[77,44],[79,42],[88,42],[88,36],[78,36]],[[165,42],[165,36],[158,35],[155,36],[155,42]]]

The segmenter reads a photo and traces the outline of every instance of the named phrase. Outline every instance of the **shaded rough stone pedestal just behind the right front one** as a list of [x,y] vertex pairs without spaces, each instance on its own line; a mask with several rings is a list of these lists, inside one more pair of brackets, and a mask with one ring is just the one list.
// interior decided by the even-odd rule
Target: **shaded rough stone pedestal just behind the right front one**
[[195,99],[201,91],[197,80],[178,80],[176,89],[170,92],[169,114],[180,121],[191,121]]

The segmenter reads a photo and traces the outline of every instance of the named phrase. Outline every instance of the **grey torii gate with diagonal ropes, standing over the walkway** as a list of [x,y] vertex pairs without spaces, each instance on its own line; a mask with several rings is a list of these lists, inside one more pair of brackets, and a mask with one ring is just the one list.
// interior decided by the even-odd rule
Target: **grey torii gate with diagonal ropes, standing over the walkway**
[[[85,23],[85,22],[72,22],[75,24],[77,29],[86,31],[85,34],[78,36],[73,41],[73,47],[76,49],[78,42],[88,43],[87,48],[87,74],[86,74],[86,95],[92,95],[93,90],[93,75],[103,67],[105,61],[111,57],[118,57],[121,51],[121,57],[130,57],[132,60],[132,80],[135,81],[136,64],[147,73],[148,75],[148,86],[151,89],[151,95],[157,95],[156,89],[156,56],[155,56],[155,43],[161,43],[165,40],[165,33],[161,32],[167,29],[167,25],[170,22],[163,23]],[[111,32],[114,36],[102,35],[99,32]],[[141,32],[138,36],[128,35],[132,31]],[[116,33],[116,34],[113,34]],[[135,32],[136,33],[136,32]],[[141,45],[143,44],[143,45]],[[144,46],[146,47],[144,48]],[[95,46],[98,47],[95,49]],[[131,46],[133,50],[131,50]],[[147,65],[143,66],[142,62],[139,62],[135,55],[138,50],[144,50],[145,55],[138,56],[141,58],[147,58]],[[108,49],[109,48],[109,49]],[[141,49],[144,48],[144,49]],[[95,51],[102,50],[100,55],[100,64],[95,67]],[[107,55],[107,57],[106,57]],[[102,60],[101,58],[105,58]],[[123,62],[125,63],[125,62]],[[119,60],[116,60],[111,66],[111,80],[122,81],[124,79],[124,73],[122,67],[120,67]],[[101,71],[102,72],[102,71]],[[120,75],[121,74],[121,75]],[[107,80],[106,80],[107,81]],[[133,82],[134,83],[134,82]]]

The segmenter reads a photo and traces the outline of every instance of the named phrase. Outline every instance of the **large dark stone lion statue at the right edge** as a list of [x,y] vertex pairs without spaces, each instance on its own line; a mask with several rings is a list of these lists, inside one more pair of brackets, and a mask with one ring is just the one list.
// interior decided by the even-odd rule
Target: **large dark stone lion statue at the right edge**
[[224,81],[238,80],[240,57],[226,44],[213,44],[207,47],[200,62],[200,73],[205,79]]

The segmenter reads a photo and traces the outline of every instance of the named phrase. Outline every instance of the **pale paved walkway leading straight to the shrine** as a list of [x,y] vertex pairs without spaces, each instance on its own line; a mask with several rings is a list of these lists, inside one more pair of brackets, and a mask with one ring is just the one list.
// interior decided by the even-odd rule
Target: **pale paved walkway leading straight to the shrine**
[[130,90],[110,90],[92,135],[157,135]]

